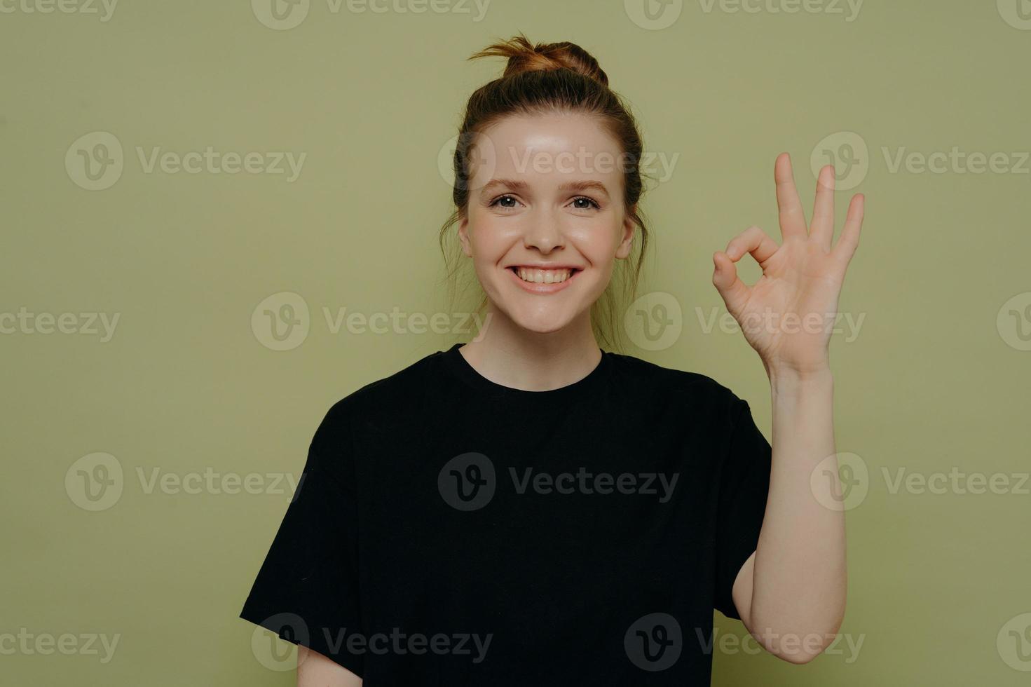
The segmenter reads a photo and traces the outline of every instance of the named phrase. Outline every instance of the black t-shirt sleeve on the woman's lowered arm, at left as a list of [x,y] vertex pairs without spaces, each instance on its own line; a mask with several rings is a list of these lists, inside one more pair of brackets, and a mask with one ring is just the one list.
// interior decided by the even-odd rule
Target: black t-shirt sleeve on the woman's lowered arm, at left
[[[304,470],[239,617],[303,645],[358,676],[358,532],[350,432],[323,420]],[[271,639],[270,639],[271,641]]]

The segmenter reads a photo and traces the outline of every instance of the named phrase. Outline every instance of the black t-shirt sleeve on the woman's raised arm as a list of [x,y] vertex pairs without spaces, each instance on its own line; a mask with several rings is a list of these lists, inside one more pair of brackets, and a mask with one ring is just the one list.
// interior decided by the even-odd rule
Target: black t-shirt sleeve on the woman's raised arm
[[749,403],[731,404],[731,436],[720,470],[716,526],[717,611],[740,620],[731,592],[744,561],[756,551],[769,492],[772,451]]

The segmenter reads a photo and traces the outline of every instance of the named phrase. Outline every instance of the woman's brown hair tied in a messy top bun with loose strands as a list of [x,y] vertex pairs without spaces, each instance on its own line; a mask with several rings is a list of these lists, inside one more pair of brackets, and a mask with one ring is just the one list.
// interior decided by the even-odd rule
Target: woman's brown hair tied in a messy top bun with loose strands
[[[538,114],[551,112],[580,112],[598,120],[599,124],[620,143],[624,170],[624,208],[638,231],[634,232],[634,248],[627,260],[617,261],[608,288],[591,308],[591,323],[595,336],[602,347],[622,350],[623,323],[620,315],[633,300],[637,291],[648,232],[642,212],[637,207],[643,191],[641,172],[641,136],[630,108],[621,96],[608,88],[608,76],[598,61],[575,43],[537,43],[533,45],[520,33],[513,38],[497,42],[473,54],[468,59],[504,57],[508,59],[504,73],[478,88],[466,105],[455,149],[455,188],[453,198],[456,209],[440,228],[440,250],[447,266],[447,277],[453,279],[461,264],[450,260],[446,241],[448,229],[465,217],[469,202],[470,148],[476,134],[511,114]],[[457,242],[457,241],[456,241]],[[478,283],[477,283],[478,285]],[[457,281],[451,282],[452,299],[461,289]],[[480,290],[477,312],[487,305],[487,296]]]

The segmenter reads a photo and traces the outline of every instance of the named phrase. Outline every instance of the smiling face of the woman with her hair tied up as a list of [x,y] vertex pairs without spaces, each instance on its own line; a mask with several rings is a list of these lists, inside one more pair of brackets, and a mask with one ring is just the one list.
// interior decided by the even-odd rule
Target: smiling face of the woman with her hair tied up
[[508,117],[475,143],[459,237],[494,310],[542,333],[590,318],[633,239],[620,145],[578,113]]

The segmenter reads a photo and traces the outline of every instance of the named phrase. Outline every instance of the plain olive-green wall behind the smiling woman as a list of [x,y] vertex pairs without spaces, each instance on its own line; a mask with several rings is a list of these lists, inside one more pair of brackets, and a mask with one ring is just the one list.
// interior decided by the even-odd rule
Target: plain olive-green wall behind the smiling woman
[[[1020,171],[1031,27],[1007,23],[1005,2],[869,0],[846,21],[843,2],[831,7],[840,13],[787,13],[695,1],[668,5],[675,22],[652,29],[611,1],[495,0],[475,21],[471,4],[333,12],[317,0],[298,26],[276,30],[241,1],[125,2],[106,22],[29,12],[27,1],[0,13],[0,313],[120,320],[108,341],[0,335],[0,634],[121,639],[106,663],[0,654],[3,683],[293,684],[260,662],[255,626],[237,618],[289,492],[147,493],[138,470],[296,476],[334,401],[468,338],[332,333],[323,308],[450,312],[436,232],[451,192],[438,156],[465,99],[503,66],[465,58],[520,30],[590,51],[633,103],[645,150],[679,156],[645,196],[656,250],[640,292],[671,294],[683,331],[662,350],[628,352],[713,377],[752,403],[767,436],[760,361],[740,333],[699,323],[724,312],[711,254],[751,224],[779,237],[777,153],[791,153],[808,212],[821,140],[851,131],[868,146],[861,183],[836,194],[839,228],[852,193],[867,199],[840,302],[864,320],[855,340],[831,345],[837,448],[868,468],[868,493],[847,514],[841,628],[863,644],[805,666],[718,650],[713,684],[1031,680],[1031,661],[1007,662],[997,646],[1000,632],[1011,646],[1004,626],[1016,619],[1020,632],[1031,612],[1028,485],[891,488],[900,468],[1029,469],[1031,352],[997,324],[1011,297],[1031,299],[1031,163]],[[65,157],[97,131],[118,138],[125,166],[89,191]],[[306,159],[294,182],[146,173],[137,146]],[[893,171],[884,152],[953,146],[1005,153],[1018,169]],[[289,351],[252,327],[258,304],[281,292],[310,307],[310,331]],[[65,480],[95,452],[119,461],[124,489],[90,512]],[[719,614],[717,624],[745,634]],[[1023,642],[1031,651],[1031,635]]]

